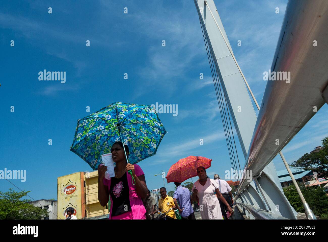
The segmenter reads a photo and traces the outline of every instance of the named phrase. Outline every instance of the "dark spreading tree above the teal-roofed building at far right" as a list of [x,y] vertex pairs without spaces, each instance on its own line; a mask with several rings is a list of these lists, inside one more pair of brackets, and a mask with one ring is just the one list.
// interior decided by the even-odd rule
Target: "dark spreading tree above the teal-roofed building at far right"
[[316,171],[328,177],[328,136],[322,139],[322,147],[323,149],[319,152],[304,154],[290,166],[308,171]]

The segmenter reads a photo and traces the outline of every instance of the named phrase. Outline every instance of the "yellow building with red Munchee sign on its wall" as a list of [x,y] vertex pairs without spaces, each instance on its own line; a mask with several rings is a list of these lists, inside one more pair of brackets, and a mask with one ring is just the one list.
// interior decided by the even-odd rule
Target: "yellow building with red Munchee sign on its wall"
[[104,218],[109,205],[98,201],[98,171],[77,172],[57,178],[58,219],[66,219],[66,209],[74,208],[78,219]]

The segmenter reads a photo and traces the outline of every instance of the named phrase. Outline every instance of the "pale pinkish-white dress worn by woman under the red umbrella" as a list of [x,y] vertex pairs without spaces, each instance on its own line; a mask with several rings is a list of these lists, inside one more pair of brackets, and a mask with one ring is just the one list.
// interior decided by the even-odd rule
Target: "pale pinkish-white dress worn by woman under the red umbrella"
[[199,183],[199,180],[194,184],[198,190],[197,198],[202,219],[223,219],[219,200],[215,196],[215,189],[219,188],[219,185],[209,178],[204,186]]

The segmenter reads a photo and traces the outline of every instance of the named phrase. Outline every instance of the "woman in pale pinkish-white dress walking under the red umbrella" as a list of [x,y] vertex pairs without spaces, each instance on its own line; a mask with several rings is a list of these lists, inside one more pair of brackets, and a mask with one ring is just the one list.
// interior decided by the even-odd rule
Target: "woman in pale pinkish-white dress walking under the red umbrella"
[[223,219],[218,199],[233,214],[233,210],[219,191],[219,185],[213,179],[207,177],[203,166],[197,168],[197,175],[199,179],[194,183],[193,200],[196,202],[198,199],[202,219]]

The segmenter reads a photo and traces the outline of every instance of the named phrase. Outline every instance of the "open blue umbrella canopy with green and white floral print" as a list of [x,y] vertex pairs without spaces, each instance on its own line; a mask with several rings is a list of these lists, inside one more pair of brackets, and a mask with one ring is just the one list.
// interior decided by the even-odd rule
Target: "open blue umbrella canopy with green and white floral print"
[[116,141],[123,141],[129,146],[128,162],[135,164],[156,154],[165,133],[150,106],[113,103],[77,121],[71,151],[96,170],[101,155],[111,153]]

